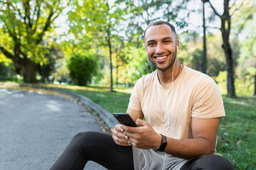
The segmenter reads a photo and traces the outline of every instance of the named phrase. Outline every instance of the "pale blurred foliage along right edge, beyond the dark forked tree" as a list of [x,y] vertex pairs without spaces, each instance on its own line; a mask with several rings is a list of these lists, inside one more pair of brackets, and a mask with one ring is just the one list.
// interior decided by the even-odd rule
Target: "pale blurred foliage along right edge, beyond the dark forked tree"
[[[256,94],[256,14],[251,12],[255,11],[256,7],[248,4],[252,4],[252,1],[247,1],[247,4],[242,8],[238,16],[243,19],[237,23],[238,28],[243,28],[240,32],[244,35],[239,44],[240,56],[237,69],[238,78],[242,82],[242,84],[238,84],[238,88],[246,89],[241,91],[244,95]],[[253,90],[254,93],[252,93]]]

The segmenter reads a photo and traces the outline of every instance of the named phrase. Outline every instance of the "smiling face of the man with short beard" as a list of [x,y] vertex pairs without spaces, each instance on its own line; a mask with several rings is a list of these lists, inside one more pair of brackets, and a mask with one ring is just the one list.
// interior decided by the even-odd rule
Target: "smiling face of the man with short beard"
[[178,47],[178,40],[171,28],[167,25],[151,26],[146,30],[144,41],[150,62],[161,71],[171,68]]

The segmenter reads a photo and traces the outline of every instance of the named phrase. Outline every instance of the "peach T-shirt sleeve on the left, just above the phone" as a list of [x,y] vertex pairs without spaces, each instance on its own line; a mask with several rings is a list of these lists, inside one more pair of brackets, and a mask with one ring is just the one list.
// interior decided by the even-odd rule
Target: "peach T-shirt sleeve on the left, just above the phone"
[[129,99],[128,108],[135,111],[142,111],[141,95],[139,94],[139,91],[142,91],[142,79],[139,79],[134,85],[134,89],[132,89],[132,94]]

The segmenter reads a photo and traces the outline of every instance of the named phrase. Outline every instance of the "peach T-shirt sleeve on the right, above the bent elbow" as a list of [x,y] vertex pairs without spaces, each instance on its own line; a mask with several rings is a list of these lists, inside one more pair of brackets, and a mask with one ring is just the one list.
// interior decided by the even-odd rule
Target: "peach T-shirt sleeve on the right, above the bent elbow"
[[210,77],[203,79],[193,97],[191,117],[218,118],[225,116],[223,98],[217,84]]

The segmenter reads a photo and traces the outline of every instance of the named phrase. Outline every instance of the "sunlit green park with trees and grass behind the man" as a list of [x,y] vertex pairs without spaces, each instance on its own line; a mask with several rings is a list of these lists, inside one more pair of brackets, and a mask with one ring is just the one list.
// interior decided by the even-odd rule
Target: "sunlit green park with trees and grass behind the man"
[[223,94],[218,152],[236,169],[255,169],[255,11],[253,0],[2,0],[0,80],[73,91],[125,112],[132,86],[151,72],[143,31],[169,21],[178,60]]

